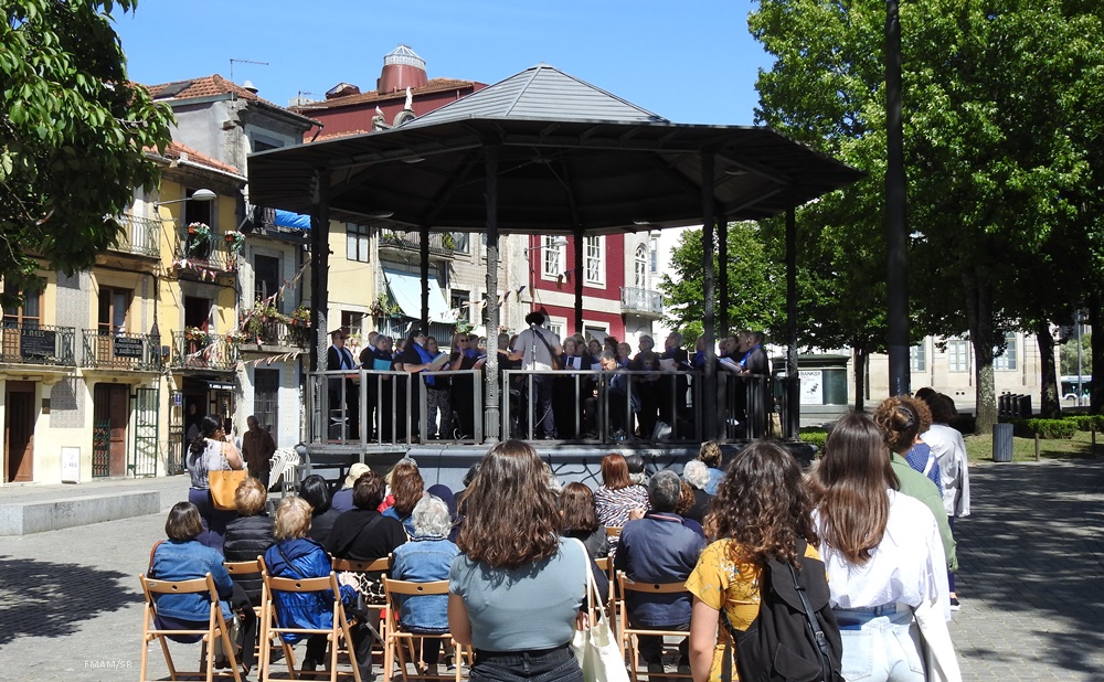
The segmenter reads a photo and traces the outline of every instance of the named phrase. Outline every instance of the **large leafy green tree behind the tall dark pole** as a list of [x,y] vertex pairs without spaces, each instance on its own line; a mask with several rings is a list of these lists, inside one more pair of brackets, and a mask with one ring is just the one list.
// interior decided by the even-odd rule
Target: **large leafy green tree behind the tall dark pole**
[[[1095,139],[1104,120],[1078,120],[1065,90],[1091,92],[1082,82],[1100,78],[1098,18],[1064,9],[1042,0],[901,8],[911,305],[926,329],[968,333],[983,433],[996,420],[992,358],[1004,331],[1038,329],[1059,308],[1061,296],[1023,297],[1016,281],[1033,271],[1040,289],[1040,254],[1061,251],[1083,195],[1087,152],[1074,132]],[[884,11],[872,0],[763,0],[749,24],[776,61],[760,77],[757,119],[879,175]],[[842,220],[878,215],[884,203],[875,192],[838,195]]]

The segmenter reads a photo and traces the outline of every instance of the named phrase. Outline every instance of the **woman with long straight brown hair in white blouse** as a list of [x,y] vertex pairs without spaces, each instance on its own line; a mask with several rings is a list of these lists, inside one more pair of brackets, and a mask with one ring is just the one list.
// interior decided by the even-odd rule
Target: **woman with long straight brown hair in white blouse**
[[882,431],[869,416],[851,413],[836,423],[810,486],[843,637],[843,676],[960,680],[935,516],[899,492]]

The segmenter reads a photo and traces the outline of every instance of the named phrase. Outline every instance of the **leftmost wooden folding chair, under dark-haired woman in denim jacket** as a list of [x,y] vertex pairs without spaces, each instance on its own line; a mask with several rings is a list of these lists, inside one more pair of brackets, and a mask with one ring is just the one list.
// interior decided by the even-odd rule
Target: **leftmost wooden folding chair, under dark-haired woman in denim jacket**
[[[146,669],[149,662],[149,643],[157,639],[161,643],[161,651],[164,653],[164,662],[169,667],[169,678],[176,680],[177,675],[205,675],[206,682],[212,682],[214,678],[234,678],[235,682],[242,682],[242,676],[237,671],[237,659],[234,657],[234,642],[230,639],[230,630],[226,627],[226,621],[222,617],[222,607],[219,603],[219,590],[215,589],[214,579],[211,574],[206,574],[202,578],[193,578],[191,580],[158,580],[153,578],[147,578],[145,575],[139,575],[138,580],[141,583],[142,594],[146,596],[146,607],[142,610],[142,630],[141,630],[141,667],[139,675],[141,682],[146,682],[148,678],[146,676]],[[157,627],[157,598],[155,595],[204,595],[206,596],[210,604],[210,611],[208,615],[208,627],[205,629],[193,629],[193,630],[176,630],[166,629]],[[202,670],[195,672],[181,672],[178,671],[176,665],[172,663],[172,656],[169,653],[169,644],[166,642],[166,638],[172,639],[173,637],[200,637],[203,643],[203,652],[205,656],[200,660],[200,667]],[[214,647],[212,646],[216,640],[222,641],[223,650],[226,652],[226,658],[230,660],[230,671],[229,672],[215,672],[214,670]]]

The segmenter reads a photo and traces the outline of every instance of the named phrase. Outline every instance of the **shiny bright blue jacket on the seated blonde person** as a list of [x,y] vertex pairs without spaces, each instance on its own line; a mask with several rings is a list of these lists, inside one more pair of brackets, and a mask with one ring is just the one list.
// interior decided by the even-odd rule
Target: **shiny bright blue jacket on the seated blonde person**
[[[285,558],[287,557],[287,558]],[[288,563],[290,562],[290,563]],[[265,552],[269,575],[278,578],[321,578],[330,575],[330,555],[322,545],[308,537],[283,540]],[[283,628],[329,629],[333,625],[333,593],[329,589],[310,593],[276,593],[276,618]],[[357,590],[341,586],[341,601],[357,604]],[[297,642],[306,635],[285,632],[284,640]]]

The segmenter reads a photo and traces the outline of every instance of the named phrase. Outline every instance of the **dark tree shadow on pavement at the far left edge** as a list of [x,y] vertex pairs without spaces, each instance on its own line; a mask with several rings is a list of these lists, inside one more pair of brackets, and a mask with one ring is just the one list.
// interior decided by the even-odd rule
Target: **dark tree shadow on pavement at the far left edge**
[[[0,646],[17,637],[64,637],[85,621],[141,603],[137,579],[117,571],[0,556]],[[2,674],[0,674],[2,676]]]

